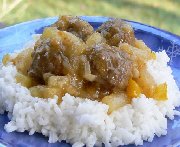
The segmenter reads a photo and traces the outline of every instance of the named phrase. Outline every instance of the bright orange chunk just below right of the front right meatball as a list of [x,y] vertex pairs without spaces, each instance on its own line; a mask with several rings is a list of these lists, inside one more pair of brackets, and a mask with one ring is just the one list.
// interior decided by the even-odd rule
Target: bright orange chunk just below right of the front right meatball
[[141,88],[133,79],[129,80],[129,83],[126,89],[126,94],[130,101],[132,98],[136,98],[141,94]]

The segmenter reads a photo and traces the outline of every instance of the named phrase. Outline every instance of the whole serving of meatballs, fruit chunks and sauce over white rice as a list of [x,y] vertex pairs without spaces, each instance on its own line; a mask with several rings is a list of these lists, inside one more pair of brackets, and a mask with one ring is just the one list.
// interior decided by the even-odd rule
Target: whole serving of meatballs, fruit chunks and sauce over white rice
[[168,61],[121,19],[94,30],[61,16],[30,47],[2,59],[0,110],[12,115],[5,129],[75,146],[152,141],[180,105]]

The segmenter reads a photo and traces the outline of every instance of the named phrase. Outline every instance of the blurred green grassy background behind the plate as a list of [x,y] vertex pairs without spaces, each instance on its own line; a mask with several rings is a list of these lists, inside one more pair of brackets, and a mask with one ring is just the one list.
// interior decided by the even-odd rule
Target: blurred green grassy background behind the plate
[[70,15],[111,16],[180,35],[180,0],[0,0],[0,25]]

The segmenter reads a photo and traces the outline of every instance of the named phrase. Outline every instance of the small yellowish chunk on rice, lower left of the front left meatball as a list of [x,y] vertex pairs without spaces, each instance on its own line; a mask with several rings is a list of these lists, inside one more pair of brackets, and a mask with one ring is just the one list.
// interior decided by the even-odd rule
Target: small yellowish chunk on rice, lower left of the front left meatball
[[21,83],[22,86],[27,88],[37,84],[31,77],[25,76],[21,73],[17,73],[15,78],[17,83]]

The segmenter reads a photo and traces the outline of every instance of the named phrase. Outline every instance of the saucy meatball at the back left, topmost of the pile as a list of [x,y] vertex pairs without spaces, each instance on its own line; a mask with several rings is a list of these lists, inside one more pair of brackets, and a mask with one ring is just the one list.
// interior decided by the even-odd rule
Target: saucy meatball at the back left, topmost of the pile
[[61,16],[52,26],[57,27],[60,31],[71,32],[83,41],[86,41],[87,37],[94,32],[93,27],[88,22],[81,20],[77,16]]

